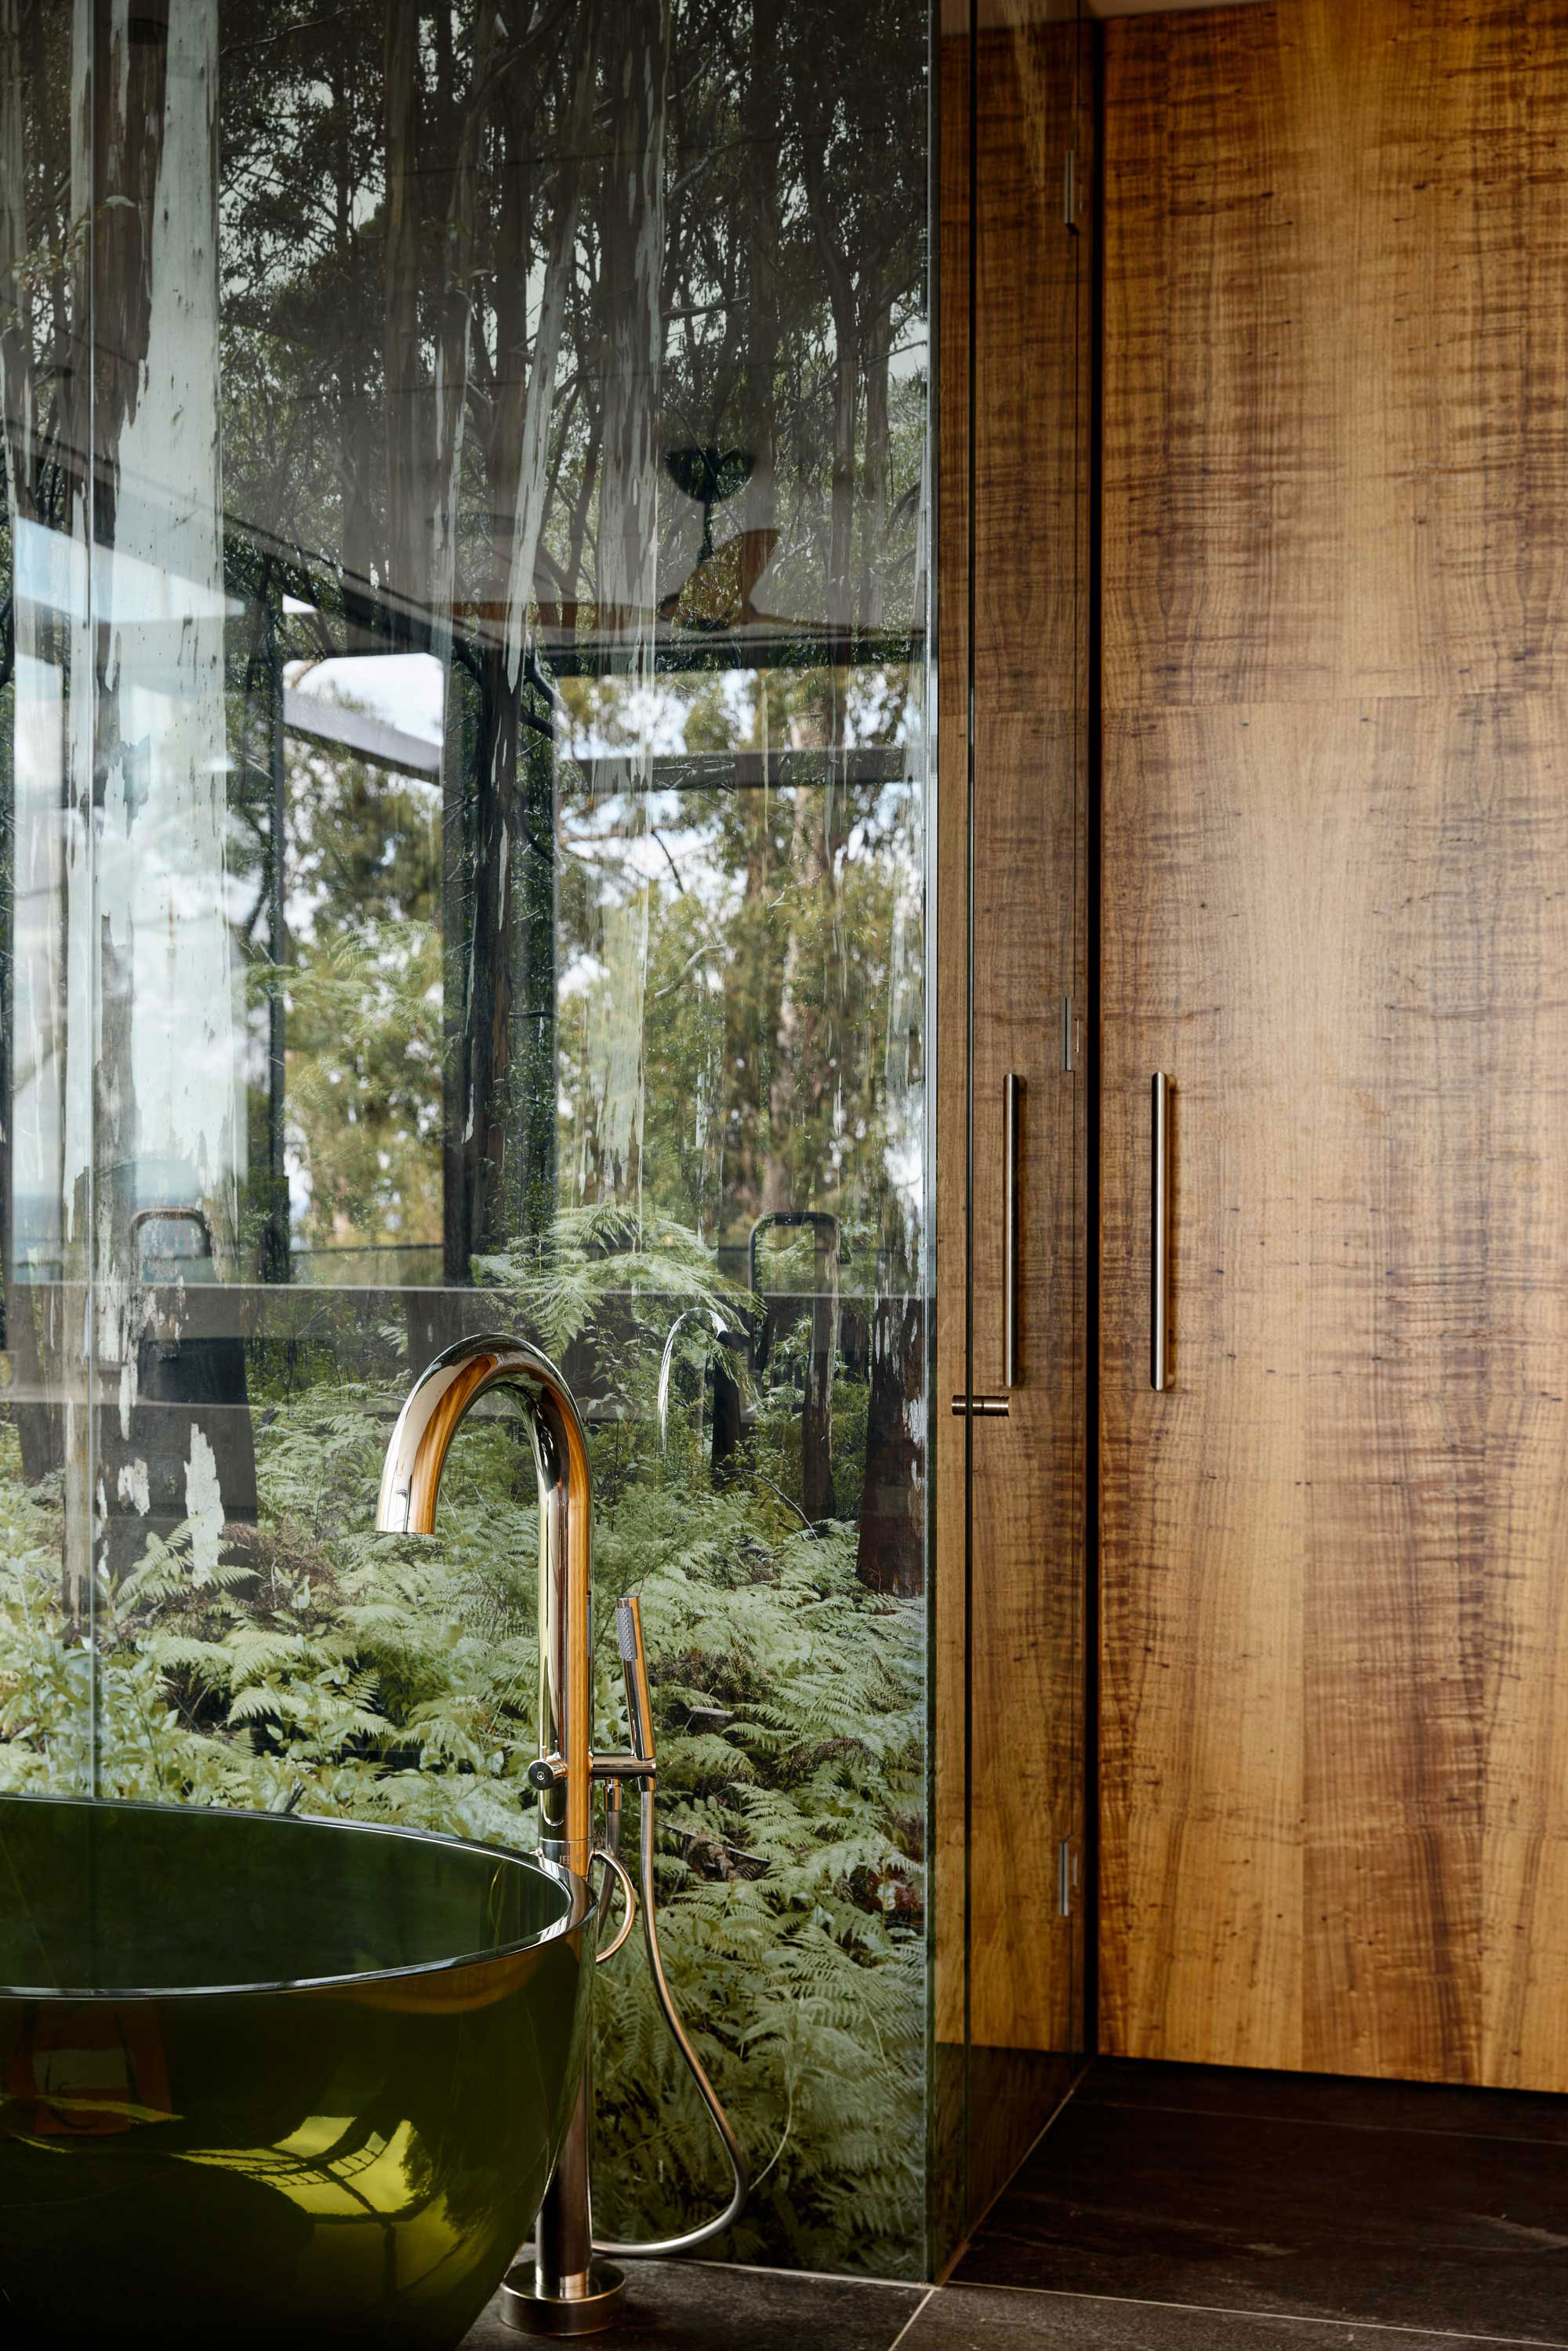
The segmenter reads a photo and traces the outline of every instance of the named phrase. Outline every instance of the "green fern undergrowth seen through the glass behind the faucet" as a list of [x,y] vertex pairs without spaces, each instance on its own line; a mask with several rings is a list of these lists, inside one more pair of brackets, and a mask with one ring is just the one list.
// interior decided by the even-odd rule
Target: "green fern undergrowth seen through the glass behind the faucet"
[[[597,1366],[599,1737],[625,1744],[614,1599],[642,1594],[661,1761],[658,1902],[677,2001],[757,2186],[726,2250],[914,2271],[924,2203],[924,1613],[856,1578],[851,1523],[780,1493],[792,1399],[715,1488],[691,1399],[712,1314],[741,1302],[675,1225],[562,1218],[548,1253],[484,1260],[494,1319]],[[656,1380],[682,1331],[686,1411]],[[404,1375],[388,1321],[369,1375],[280,1380],[252,1361],[261,1514],[219,1566],[148,1538],[92,1639],[61,1610],[61,1495],[26,1488],[0,1425],[0,1787],[99,1789],[402,1822],[529,1846],[536,1509],[520,1422],[477,1413],[440,1533],[378,1538],[371,1509]],[[364,1352],[364,1349],[362,1349]],[[778,1352],[788,1364],[788,1349]],[[364,1366],[360,1366],[364,1368]],[[773,1373],[771,1373],[773,1375]],[[849,1382],[844,1382],[849,1387]],[[842,1396],[853,1427],[856,1399]],[[607,1636],[609,1634],[609,1636]],[[628,1806],[635,1846],[635,1801]],[[724,2165],[665,2036],[642,1942],[597,1977],[597,2222],[689,2226]]]

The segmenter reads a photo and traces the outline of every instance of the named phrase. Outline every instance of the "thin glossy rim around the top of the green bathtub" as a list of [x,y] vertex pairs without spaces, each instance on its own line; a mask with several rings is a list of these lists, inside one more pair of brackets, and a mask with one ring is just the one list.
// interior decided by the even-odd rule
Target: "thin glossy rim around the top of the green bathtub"
[[541,1853],[520,1853],[512,1846],[491,1846],[480,1836],[442,1836],[440,1829],[404,1829],[393,1820],[343,1820],[331,1813],[263,1813],[233,1803],[146,1803],[120,1796],[47,1796],[38,1789],[0,1791],[0,1820],[9,1803],[56,1806],[75,1813],[158,1813],[158,1815],[219,1815],[221,1820],[270,1822],[275,1829],[341,1829],[348,1836],[390,1836],[411,1846],[440,1846],[442,1850],[475,1853],[482,1860],[510,1862],[531,1869],[567,1895],[564,1916],[550,1921],[536,1935],[517,1942],[498,1942],[482,1951],[458,1951],[451,1958],[421,1958],[407,1968],[355,1968],[339,1975],[282,1975],[252,1977],[240,1984],[7,1984],[0,1982],[0,2001],[49,2001],[52,2005],[92,2005],[125,2001],[242,2001],[268,1998],[287,1991],[355,1991],[360,1984],[400,1984],[423,1975],[451,1975],[458,1968],[489,1968],[527,1951],[543,1951],[545,1944],[567,1942],[576,1935],[595,1909],[595,1895],[585,1878],[550,1862]]

